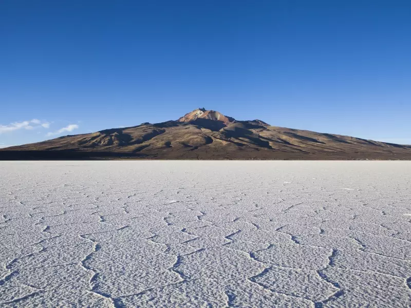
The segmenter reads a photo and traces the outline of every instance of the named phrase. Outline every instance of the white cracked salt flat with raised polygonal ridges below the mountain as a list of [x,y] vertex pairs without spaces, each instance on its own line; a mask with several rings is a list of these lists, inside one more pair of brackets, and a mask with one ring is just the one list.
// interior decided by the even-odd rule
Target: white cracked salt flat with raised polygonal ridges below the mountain
[[2,307],[410,307],[411,162],[0,162]]

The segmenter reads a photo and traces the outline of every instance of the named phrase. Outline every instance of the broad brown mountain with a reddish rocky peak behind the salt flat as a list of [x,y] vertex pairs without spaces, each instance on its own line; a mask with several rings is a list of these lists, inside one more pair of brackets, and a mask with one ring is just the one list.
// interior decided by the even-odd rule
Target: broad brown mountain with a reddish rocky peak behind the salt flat
[[237,121],[195,109],[178,120],[0,150],[0,159],[411,159],[411,146]]

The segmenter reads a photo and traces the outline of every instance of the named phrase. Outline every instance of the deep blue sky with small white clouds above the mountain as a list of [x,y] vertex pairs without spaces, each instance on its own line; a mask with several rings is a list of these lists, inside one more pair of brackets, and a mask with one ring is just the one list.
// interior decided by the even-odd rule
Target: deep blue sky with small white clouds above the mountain
[[0,42],[0,146],[197,107],[411,144],[411,1],[2,0]]

